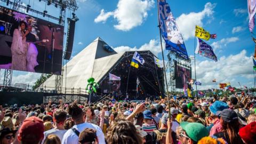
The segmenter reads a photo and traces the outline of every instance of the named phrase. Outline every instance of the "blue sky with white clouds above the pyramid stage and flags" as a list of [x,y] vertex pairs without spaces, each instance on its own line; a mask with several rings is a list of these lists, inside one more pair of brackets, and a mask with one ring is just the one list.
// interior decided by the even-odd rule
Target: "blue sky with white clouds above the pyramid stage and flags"
[[[22,2],[28,4],[28,1]],[[213,47],[218,62],[196,55],[197,81],[202,83],[202,86],[197,87],[199,90],[217,88],[216,84],[228,82],[231,86],[239,87],[239,82],[242,86],[253,87],[252,55],[255,44],[251,38],[254,35],[247,26],[249,17],[246,1],[166,2],[185,40],[189,57],[194,57],[196,25],[211,34],[217,34],[217,39],[205,42]],[[45,3],[38,0],[31,0],[30,5],[37,10],[45,9]],[[99,36],[117,52],[150,50],[162,59],[156,0],[78,0],[77,5],[79,8],[75,13],[79,21],[76,22],[72,57]],[[54,6],[46,9],[48,14],[59,17],[59,10]],[[164,53],[166,55],[167,50]],[[194,60],[191,65],[194,77]],[[4,70],[1,70],[1,82],[3,74]],[[40,75],[14,71],[12,84],[33,85]],[[217,79],[217,83],[212,83],[212,79]]]

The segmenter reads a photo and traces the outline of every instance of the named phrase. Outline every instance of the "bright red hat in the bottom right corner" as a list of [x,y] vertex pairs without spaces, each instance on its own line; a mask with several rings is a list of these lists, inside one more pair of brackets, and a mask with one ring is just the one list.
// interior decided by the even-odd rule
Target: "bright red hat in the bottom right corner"
[[255,144],[256,143],[256,122],[252,122],[239,130],[240,137],[246,142]]

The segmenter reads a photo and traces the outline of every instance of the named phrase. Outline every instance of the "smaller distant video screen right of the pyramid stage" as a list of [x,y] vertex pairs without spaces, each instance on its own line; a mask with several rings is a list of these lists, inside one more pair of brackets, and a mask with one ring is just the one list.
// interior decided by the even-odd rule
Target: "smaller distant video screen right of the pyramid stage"
[[176,66],[176,73],[175,73],[175,85],[177,89],[183,89],[183,86],[187,84],[188,81],[191,79],[190,69]]

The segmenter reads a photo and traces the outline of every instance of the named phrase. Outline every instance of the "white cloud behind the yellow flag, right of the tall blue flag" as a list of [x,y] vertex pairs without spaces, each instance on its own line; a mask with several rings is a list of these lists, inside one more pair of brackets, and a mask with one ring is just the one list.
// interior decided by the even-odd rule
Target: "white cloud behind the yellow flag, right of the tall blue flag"
[[188,14],[183,13],[177,18],[177,25],[185,41],[191,37],[194,37],[196,25],[203,26],[203,19],[205,17],[212,18],[212,14],[214,13],[213,9],[215,6],[216,4],[206,3],[203,11],[197,13],[190,12]]

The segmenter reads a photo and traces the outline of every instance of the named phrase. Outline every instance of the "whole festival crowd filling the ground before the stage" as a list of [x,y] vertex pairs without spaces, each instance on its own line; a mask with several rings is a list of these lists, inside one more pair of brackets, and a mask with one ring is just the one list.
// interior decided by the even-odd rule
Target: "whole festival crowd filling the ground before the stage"
[[0,144],[256,143],[256,97],[0,106]]

